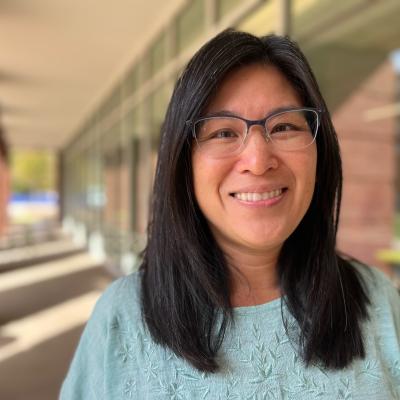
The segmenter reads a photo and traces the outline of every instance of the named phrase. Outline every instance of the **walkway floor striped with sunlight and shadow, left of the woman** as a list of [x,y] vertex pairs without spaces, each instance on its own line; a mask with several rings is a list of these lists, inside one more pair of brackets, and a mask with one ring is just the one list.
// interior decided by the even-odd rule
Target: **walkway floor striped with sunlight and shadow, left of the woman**
[[[0,273],[2,400],[58,398],[83,326],[112,280],[102,265],[72,243],[53,241],[42,250],[32,258],[36,262],[12,270],[6,260],[16,251],[0,252],[0,271],[5,271]],[[21,257],[32,255],[32,248],[18,251]],[[46,252],[53,259],[37,262]]]

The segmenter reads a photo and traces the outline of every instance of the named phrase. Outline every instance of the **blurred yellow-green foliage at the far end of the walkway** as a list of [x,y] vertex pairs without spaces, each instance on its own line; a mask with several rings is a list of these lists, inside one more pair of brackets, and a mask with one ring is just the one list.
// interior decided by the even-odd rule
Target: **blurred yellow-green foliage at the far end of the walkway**
[[12,151],[11,181],[14,193],[55,190],[55,154],[44,150]]

